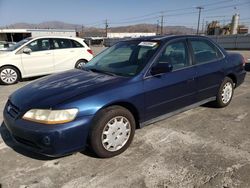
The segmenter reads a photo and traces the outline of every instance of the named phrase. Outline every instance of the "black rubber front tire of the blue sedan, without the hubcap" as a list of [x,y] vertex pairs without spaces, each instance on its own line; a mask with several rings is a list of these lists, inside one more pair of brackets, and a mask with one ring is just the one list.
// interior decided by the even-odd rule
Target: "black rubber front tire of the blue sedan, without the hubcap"
[[[131,132],[130,137],[127,143],[118,151],[108,151],[102,145],[102,132],[105,125],[114,117],[116,116],[123,116],[127,118],[130,123]],[[111,106],[106,109],[101,110],[98,112],[96,117],[94,118],[92,129],[90,132],[90,145],[93,151],[97,154],[98,157],[101,158],[109,158],[116,156],[122,152],[124,152],[129,145],[131,144],[135,132],[135,119],[133,115],[125,108],[120,106]]]

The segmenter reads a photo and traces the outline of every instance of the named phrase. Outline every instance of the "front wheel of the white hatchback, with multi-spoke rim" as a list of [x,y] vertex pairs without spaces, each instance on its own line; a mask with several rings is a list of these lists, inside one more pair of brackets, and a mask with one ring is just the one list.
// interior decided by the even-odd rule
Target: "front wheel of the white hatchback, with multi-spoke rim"
[[15,84],[20,80],[20,72],[12,66],[0,68],[0,83],[4,85]]

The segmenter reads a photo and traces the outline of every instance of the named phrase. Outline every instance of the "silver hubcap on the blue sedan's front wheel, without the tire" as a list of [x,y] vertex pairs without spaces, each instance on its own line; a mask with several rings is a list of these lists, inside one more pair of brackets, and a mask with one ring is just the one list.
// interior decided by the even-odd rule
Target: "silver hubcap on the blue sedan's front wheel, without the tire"
[[104,127],[102,132],[102,145],[108,151],[118,151],[128,141],[131,126],[127,118],[116,116]]

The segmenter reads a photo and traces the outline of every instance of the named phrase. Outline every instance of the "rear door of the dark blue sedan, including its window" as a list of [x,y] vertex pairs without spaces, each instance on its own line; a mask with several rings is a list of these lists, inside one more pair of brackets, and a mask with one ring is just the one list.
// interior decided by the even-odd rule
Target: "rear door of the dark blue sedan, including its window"
[[193,51],[198,87],[197,100],[202,101],[216,96],[224,78],[225,58],[223,53],[207,39],[189,40]]

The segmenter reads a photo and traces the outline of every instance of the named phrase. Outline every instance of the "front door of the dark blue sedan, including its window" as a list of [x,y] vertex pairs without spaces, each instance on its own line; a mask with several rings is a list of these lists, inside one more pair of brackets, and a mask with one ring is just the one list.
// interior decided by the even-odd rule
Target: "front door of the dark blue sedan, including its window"
[[145,78],[145,120],[195,102],[195,67],[191,66],[186,40],[168,44],[155,62],[158,63],[169,63],[173,70]]

